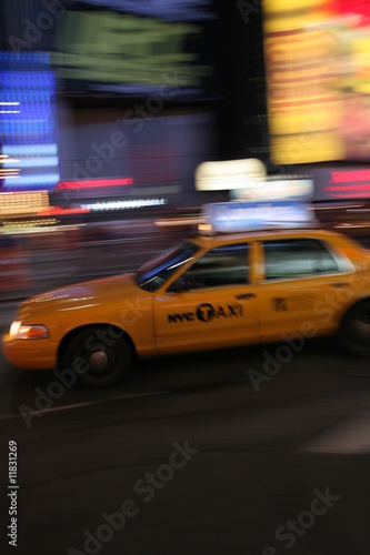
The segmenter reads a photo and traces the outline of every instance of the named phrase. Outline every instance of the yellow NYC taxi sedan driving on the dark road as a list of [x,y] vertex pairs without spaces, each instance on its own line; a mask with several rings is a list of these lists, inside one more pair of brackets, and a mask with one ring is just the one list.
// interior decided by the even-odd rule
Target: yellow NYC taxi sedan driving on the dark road
[[137,273],[30,297],[2,347],[14,366],[68,369],[99,387],[136,357],[331,334],[370,355],[370,251],[281,229],[198,234]]

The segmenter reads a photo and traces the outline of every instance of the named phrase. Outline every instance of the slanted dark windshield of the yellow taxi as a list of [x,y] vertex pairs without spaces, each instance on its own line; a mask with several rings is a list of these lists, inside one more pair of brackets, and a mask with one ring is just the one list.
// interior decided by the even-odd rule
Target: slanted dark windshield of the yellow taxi
[[137,272],[137,283],[144,291],[157,291],[180,266],[199,251],[194,243],[184,242],[146,262]]

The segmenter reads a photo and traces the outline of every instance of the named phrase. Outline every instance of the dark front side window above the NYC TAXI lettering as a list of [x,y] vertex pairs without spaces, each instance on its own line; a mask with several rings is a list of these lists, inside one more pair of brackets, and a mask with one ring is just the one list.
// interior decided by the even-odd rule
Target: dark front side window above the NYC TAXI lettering
[[208,251],[182,278],[190,290],[247,283],[247,243],[223,245]]

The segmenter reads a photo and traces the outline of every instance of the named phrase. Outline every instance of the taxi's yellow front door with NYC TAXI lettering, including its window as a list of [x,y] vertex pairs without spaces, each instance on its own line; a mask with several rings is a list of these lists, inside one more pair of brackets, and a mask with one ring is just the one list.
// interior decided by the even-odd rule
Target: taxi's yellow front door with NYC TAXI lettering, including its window
[[[249,282],[247,245],[213,249],[154,299],[160,353],[242,345],[258,339],[259,299]],[[179,280],[178,280],[179,283]]]

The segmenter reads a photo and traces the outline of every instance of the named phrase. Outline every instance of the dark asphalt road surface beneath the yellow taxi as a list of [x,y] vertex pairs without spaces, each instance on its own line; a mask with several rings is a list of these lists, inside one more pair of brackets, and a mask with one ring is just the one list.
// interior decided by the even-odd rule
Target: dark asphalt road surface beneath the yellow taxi
[[369,360],[313,341],[257,393],[276,350],[146,361],[103,391],[1,360],[0,553],[368,555]]

